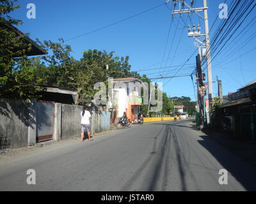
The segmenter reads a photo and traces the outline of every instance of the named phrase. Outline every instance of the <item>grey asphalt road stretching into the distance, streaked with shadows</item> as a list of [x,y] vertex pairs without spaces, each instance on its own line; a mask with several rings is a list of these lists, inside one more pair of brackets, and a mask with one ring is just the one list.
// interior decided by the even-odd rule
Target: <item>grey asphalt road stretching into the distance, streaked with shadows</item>
[[[0,166],[0,191],[244,191],[255,169],[189,120],[154,122]],[[28,169],[36,184],[28,185]],[[228,171],[220,185],[219,170]]]

